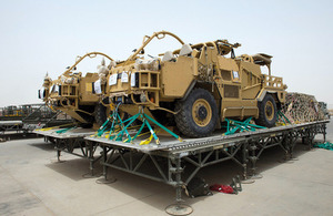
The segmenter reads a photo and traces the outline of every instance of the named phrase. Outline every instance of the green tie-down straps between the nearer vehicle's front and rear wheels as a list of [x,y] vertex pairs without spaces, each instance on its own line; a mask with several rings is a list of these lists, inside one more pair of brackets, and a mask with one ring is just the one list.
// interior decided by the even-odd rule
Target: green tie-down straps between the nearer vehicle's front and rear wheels
[[226,122],[226,132],[224,135],[231,135],[239,132],[244,132],[244,131],[255,131],[256,128],[266,128],[264,126],[260,126],[256,124],[251,124],[250,121],[252,117],[249,117],[244,122],[235,121],[235,120],[229,120],[225,119]]

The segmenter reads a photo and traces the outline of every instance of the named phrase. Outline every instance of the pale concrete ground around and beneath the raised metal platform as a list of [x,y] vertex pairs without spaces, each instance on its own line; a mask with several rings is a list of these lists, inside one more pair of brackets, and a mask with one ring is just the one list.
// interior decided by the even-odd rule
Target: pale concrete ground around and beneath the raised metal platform
[[[327,140],[333,142],[333,123]],[[316,137],[322,140],[322,135]],[[0,143],[0,215],[167,215],[174,189],[163,183],[110,169],[113,184],[85,178],[87,160],[56,151],[42,138]],[[283,153],[271,148],[258,166],[263,178],[243,184],[239,195],[214,193],[188,198],[192,215],[332,215],[333,152],[296,145],[297,161],[279,163]],[[97,164],[97,172],[102,168]],[[230,184],[240,172],[233,162],[200,172],[209,184]]]

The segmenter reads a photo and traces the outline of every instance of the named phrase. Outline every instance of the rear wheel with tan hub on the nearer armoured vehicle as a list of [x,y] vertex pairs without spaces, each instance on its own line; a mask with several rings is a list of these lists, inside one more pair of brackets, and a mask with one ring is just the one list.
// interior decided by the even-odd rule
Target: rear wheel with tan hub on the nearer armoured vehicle
[[266,94],[262,102],[258,103],[259,117],[255,124],[266,127],[275,126],[278,109],[275,100],[271,94]]

